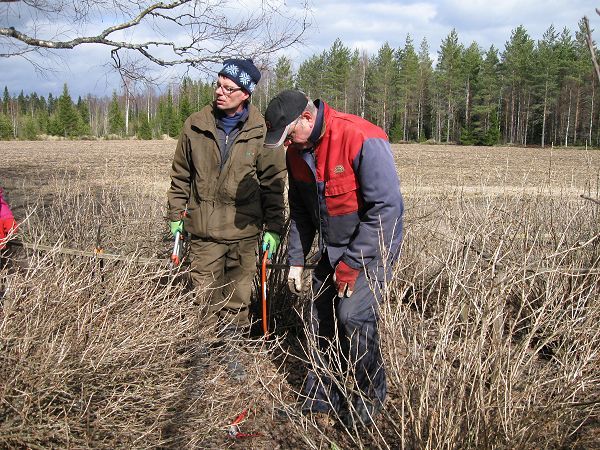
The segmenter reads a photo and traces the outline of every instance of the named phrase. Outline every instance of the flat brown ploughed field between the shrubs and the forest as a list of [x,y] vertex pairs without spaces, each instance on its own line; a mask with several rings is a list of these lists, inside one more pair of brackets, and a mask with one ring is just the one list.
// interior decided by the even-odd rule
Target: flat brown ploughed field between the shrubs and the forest
[[[168,186],[174,140],[0,142],[0,176],[7,188],[24,178],[35,185],[63,172],[94,183],[136,184],[141,179],[157,196]],[[544,188],[575,195],[598,189],[600,151],[394,145],[406,193],[468,191],[537,193]],[[597,192],[595,192],[597,194]]]

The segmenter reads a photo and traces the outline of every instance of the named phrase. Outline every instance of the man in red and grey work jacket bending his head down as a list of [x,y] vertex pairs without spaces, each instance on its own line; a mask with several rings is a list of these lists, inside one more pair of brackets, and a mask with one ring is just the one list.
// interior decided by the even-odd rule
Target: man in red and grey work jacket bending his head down
[[[370,425],[387,393],[378,304],[399,255],[404,209],[389,140],[372,123],[297,90],[271,100],[265,122],[265,146],[287,147],[288,285],[295,293],[319,236],[311,303],[318,348],[303,410]],[[348,394],[346,379],[355,382]]]

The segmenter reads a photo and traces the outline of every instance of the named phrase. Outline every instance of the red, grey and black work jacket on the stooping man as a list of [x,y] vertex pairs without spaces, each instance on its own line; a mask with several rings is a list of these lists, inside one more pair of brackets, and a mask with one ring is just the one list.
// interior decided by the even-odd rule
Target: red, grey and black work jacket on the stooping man
[[325,102],[315,105],[315,146],[287,149],[289,264],[304,265],[317,231],[333,267],[340,260],[356,269],[384,256],[395,260],[404,206],[386,134]]

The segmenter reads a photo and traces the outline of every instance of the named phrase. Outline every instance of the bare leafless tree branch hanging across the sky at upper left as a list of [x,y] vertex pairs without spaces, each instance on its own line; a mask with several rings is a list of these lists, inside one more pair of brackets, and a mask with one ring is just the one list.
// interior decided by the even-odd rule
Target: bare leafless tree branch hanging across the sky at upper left
[[32,54],[98,44],[127,77],[142,73],[140,60],[203,70],[301,43],[308,15],[307,0],[0,0],[0,57],[34,63]]

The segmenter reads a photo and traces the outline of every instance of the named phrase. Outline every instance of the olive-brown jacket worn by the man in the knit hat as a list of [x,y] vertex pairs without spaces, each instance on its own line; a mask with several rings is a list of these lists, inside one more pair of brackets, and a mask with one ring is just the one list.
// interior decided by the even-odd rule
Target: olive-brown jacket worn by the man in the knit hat
[[167,192],[169,220],[183,218],[184,230],[203,239],[236,241],[261,230],[282,233],[285,152],[263,146],[265,121],[248,105],[248,118],[221,169],[213,106],[183,124]]

